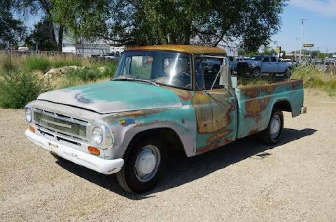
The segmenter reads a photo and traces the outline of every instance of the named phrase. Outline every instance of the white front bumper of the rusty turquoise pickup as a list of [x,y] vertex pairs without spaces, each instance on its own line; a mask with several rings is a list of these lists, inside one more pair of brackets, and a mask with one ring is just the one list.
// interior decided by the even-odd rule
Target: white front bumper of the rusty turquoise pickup
[[93,156],[93,154],[46,139],[43,136],[39,136],[36,133],[31,132],[30,130],[26,130],[25,134],[30,141],[38,146],[41,146],[43,149],[102,174],[117,173],[124,165],[124,159],[122,158],[114,160],[101,159]]

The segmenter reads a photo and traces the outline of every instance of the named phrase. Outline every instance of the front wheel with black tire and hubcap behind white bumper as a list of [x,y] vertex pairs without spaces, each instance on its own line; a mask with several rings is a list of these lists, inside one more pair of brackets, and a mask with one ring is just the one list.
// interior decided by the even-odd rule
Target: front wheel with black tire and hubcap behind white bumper
[[167,160],[167,149],[158,137],[145,138],[131,145],[125,154],[125,164],[117,173],[126,191],[143,193],[158,183]]

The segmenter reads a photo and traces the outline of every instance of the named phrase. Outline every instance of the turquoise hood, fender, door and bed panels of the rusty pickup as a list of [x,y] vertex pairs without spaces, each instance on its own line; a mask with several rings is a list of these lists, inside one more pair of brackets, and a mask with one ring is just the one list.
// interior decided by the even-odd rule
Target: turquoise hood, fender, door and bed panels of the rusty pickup
[[[106,124],[118,141],[113,149],[120,146],[120,151],[103,158],[122,157],[131,138],[156,128],[174,130],[190,157],[266,129],[277,103],[293,117],[298,116],[303,88],[302,80],[291,80],[205,94],[142,82],[108,81],[46,92],[31,106],[35,103],[46,111],[52,104],[52,112],[67,116],[76,116],[76,109],[82,108],[91,114],[81,118]],[[43,103],[48,106],[43,108]],[[57,104],[69,107],[57,110]]]

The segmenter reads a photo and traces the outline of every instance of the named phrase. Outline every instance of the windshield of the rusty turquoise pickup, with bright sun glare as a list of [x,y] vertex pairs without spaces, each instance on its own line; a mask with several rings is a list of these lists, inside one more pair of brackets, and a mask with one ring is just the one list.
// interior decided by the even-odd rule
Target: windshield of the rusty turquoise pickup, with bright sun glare
[[114,79],[146,80],[191,89],[191,55],[168,51],[124,52]]

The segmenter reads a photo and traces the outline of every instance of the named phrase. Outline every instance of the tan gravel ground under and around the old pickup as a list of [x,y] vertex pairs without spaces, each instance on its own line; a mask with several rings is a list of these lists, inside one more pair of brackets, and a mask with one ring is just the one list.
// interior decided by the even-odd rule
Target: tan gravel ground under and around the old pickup
[[171,158],[145,195],[56,161],[24,136],[23,110],[0,109],[0,221],[335,221],[336,99],[306,91],[304,103],[278,145],[245,138]]

